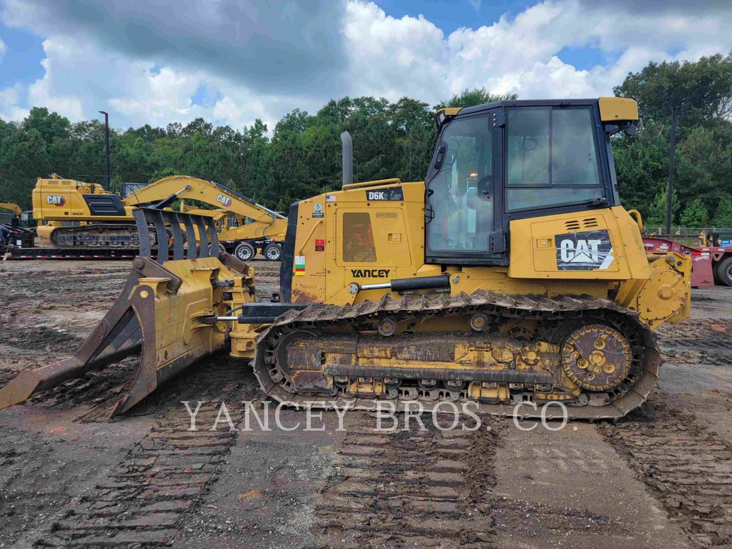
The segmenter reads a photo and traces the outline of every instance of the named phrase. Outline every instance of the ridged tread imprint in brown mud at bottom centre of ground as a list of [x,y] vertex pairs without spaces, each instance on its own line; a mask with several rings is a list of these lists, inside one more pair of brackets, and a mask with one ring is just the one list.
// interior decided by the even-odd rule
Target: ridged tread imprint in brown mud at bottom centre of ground
[[[479,432],[431,425],[379,432],[369,414],[358,415],[315,502],[316,523],[330,545],[491,546],[495,521],[482,502],[492,479],[496,423]],[[474,467],[474,460],[485,463]]]

